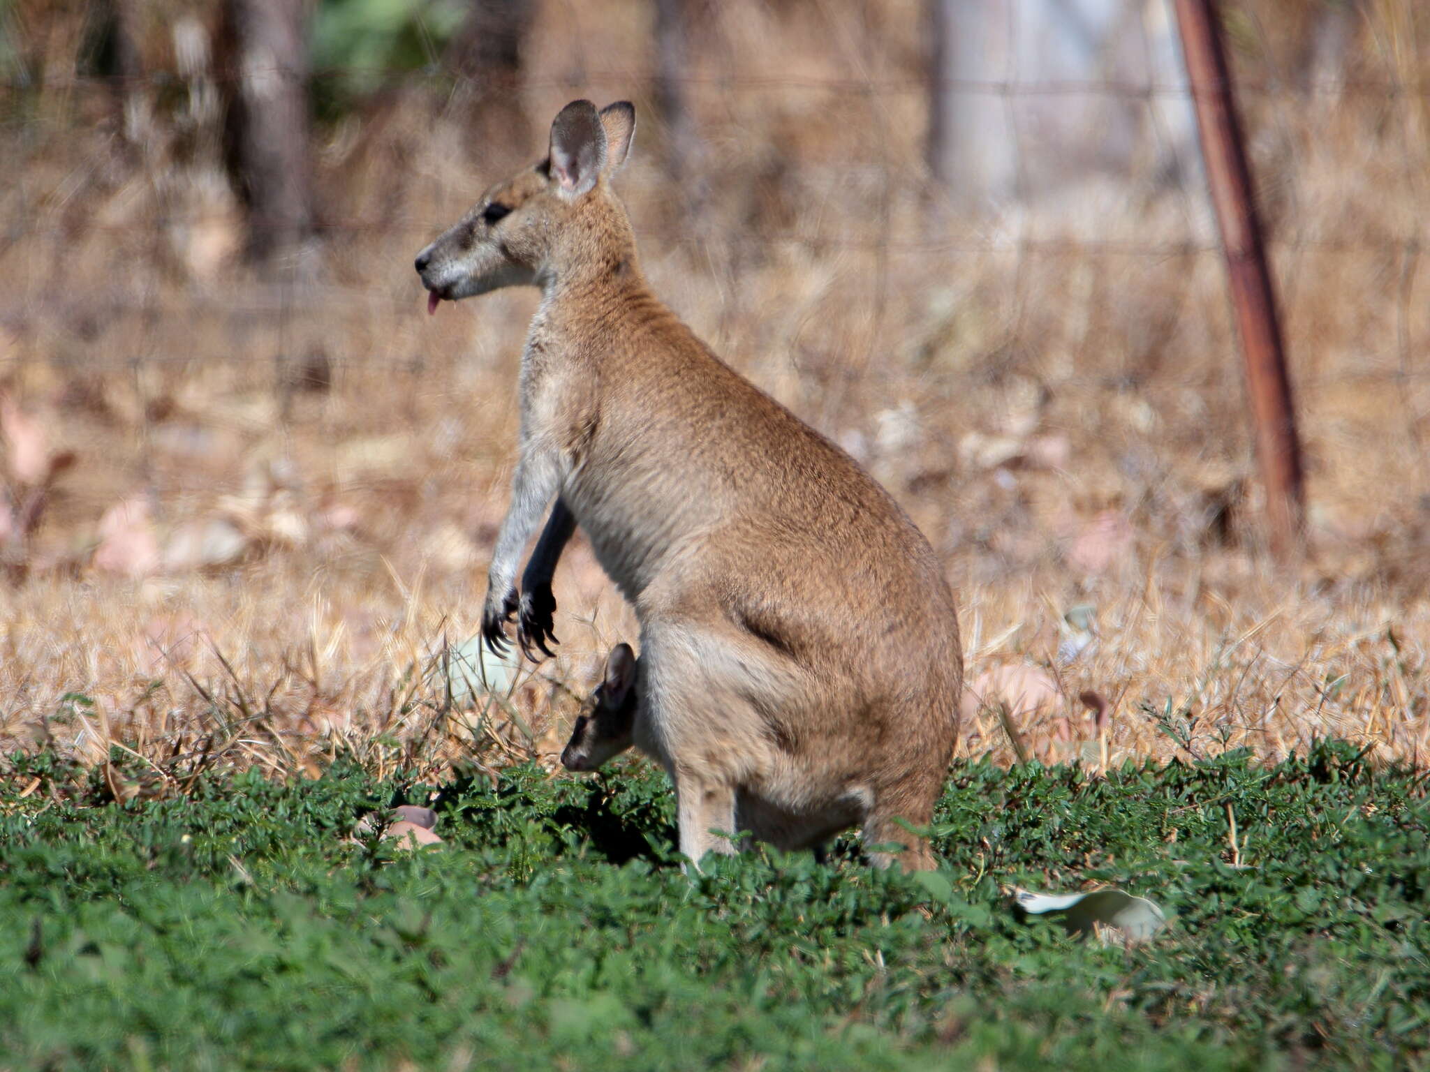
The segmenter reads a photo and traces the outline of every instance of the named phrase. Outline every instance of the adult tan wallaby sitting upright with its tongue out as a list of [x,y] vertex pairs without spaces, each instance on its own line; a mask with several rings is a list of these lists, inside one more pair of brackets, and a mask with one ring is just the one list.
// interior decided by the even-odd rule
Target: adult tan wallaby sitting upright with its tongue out
[[[611,176],[635,109],[562,109],[545,160],[418,254],[428,310],[542,290],[522,353],[521,453],[482,626],[551,633],[545,579],[575,523],[641,623],[638,728],[675,783],[681,852],[732,852],[736,796],[847,813],[871,843],[927,825],[952,755],[962,660],[928,543],[844,452],[721,362],[651,292]],[[529,593],[531,595],[531,593]],[[555,639],[555,637],[552,637]],[[888,863],[884,853],[877,862]]]

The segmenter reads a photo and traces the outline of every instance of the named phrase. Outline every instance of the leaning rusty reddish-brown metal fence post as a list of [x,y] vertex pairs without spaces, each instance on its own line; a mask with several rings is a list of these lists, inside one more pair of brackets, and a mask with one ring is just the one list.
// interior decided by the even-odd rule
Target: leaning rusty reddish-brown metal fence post
[[1271,552],[1284,559],[1300,546],[1301,446],[1216,0],[1177,0],[1177,24],[1237,310]]

